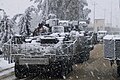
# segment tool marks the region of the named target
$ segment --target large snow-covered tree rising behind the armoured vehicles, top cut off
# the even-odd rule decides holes
[[[38,3],[38,9],[42,19],[48,14],[57,15],[63,20],[84,20],[88,15],[84,15],[84,7],[88,5],[86,0],[31,0]],[[85,9],[86,10],[86,9]],[[86,17],[86,18],[85,18]]]

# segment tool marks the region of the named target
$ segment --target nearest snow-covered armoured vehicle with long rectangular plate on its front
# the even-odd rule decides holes
[[[14,36],[3,46],[5,59],[15,61],[16,77],[42,73],[65,77],[71,72],[74,55],[80,52],[78,39],[63,41],[51,35],[31,39]]]

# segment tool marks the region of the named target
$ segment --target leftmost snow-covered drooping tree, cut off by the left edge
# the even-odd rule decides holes
[[[14,23],[8,18],[6,12],[3,9],[0,9],[3,12],[2,19],[0,21],[0,44],[7,42],[13,35],[12,27]]]

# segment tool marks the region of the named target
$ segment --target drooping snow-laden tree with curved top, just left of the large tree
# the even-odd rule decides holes
[[[20,27],[20,32],[19,32],[20,35],[29,36],[31,34],[30,23],[32,20],[31,17],[32,12],[37,13],[37,10],[35,7],[30,6],[25,10],[25,13],[22,14],[22,17],[20,18],[20,21],[18,23],[18,27]]]

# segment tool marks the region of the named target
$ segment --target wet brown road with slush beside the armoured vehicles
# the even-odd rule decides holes
[[[0,80],[18,80],[14,75],[8,76]],[[22,80],[42,80],[39,76],[34,78],[26,78]],[[61,80],[61,79],[43,79],[43,80]],[[67,80],[120,80],[117,78],[116,65],[110,66],[108,60],[103,58],[102,45],[96,45],[94,51],[91,52],[90,60],[74,66]]]

